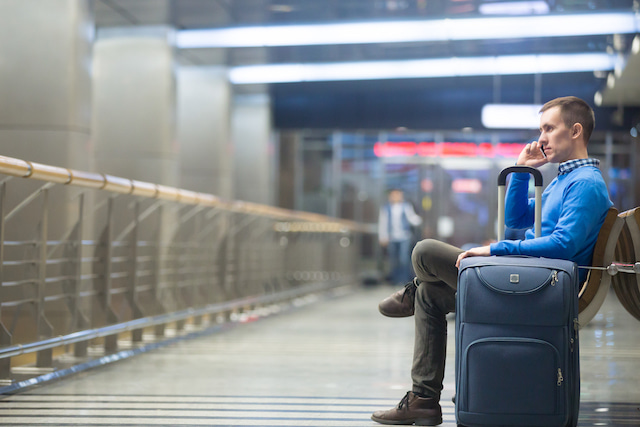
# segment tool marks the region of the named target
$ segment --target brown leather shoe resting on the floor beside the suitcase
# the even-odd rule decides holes
[[[376,411],[371,419],[380,424],[437,426],[442,424],[442,408],[437,399],[408,391],[398,406],[388,411]]]

